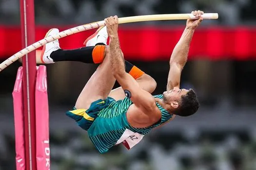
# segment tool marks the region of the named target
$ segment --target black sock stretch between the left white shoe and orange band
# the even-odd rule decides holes
[[[75,50],[62,50],[53,51],[50,57],[54,62],[58,61],[79,61],[83,63],[94,63],[92,52],[95,46],[82,47]]]

